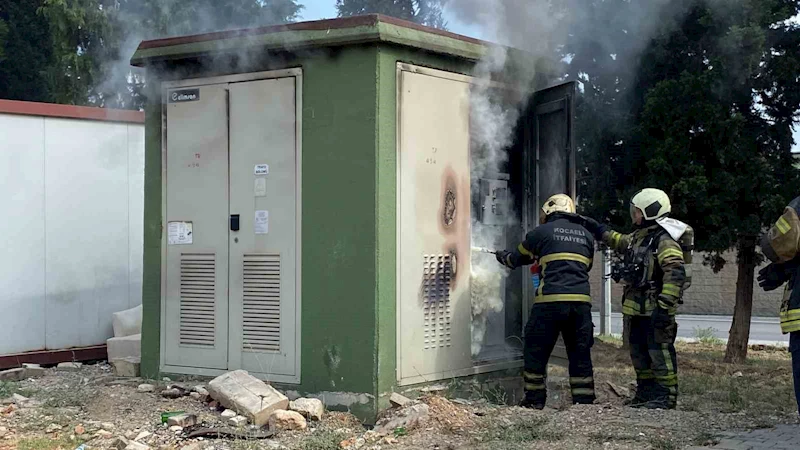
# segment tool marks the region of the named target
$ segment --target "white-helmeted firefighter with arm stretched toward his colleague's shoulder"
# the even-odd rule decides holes
[[[681,246],[669,228],[685,224],[668,219],[669,197],[659,189],[643,189],[631,199],[636,230],[623,235],[586,218],[595,238],[623,254],[612,271],[625,285],[622,314],[626,339],[636,371],[633,407],[674,409],[678,400],[678,361],[675,338],[677,306],[686,281]],[[684,228],[685,229],[685,228]]]

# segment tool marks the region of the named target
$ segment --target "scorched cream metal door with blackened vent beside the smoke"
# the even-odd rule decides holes
[[[469,83],[398,78],[398,378],[408,384],[472,366]]]

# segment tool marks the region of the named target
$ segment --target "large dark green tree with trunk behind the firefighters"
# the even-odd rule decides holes
[[[749,335],[756,237],[800,186],[790,153],[800,110],[800,27],[789,21],[800,2],[675,0],[669,7],[677,13],[664,14],[634,71],[619,57],[603,59],[608,48],[584,56],[591,41],[567,46],[575,54],[570,75],[586,92],[582,200],[590,213],[629,223],[632,191],[659,187],[670,194],[673,215],[695,228],[697,248],[715,270],[725,264],[723,252],[738,249],[726,355],[738,360]],[[624,42],[611,46],[624,55]]]

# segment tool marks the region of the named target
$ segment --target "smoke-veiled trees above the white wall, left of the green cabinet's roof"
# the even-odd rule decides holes
[[[141,40],[286,23],[301,9],[296,0],[0,0],[0,95],[138,109],[145,80],[128,60]]]

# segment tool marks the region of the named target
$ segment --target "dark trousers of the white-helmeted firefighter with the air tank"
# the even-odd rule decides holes
[[[678,324],[661,330],[653,328],[650,316],[625,316],[629,330],[631,362],[636,371],[638,402],[659,401],[667,408],[678,403],[678,358],[675,338]]]

